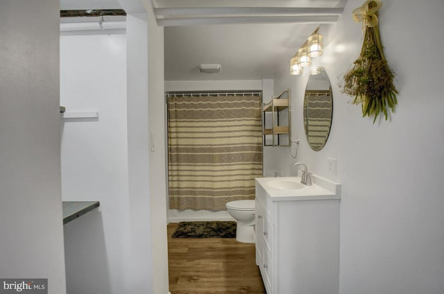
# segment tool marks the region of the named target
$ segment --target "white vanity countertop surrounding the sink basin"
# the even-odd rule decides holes
[[[295,190],[281,190],[270,187],[268,182],[275,180],[300,182],[300,177],[256,178],[256,182],[264,188],[272,201],[341,199],[341,184],[316,175],[311,175],[311,181],[313,182],[311,186],[304,185],[301,189]]]

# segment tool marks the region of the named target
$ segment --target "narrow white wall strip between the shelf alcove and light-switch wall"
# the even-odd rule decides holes
[[[138,294],[153,288],[152,242],[155,242],[151,239],[150,223],[146,13],[127,15],[126,26],[130,196],[130,258],[126,293]]]

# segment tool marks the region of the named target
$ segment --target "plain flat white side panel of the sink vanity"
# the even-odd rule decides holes
[[[273,211],[276,293],[339,292],[339,200],[282,201]]]

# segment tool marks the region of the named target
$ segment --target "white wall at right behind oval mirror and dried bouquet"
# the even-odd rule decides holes
[[[361,5],[349,0],[324,36],[321,62],[332,83],[334,114],[323,150],[311,150],[304,135],[302,98],[308,76],[283,74],[275,80],[275,90],[292,89],[293,137],[301,139],[298,161],[343,185],[340,293],[443,293],[444,100],[439,85],[444,78],[444,2],[384,2],[379,28],[400,93],[391,120],[375,124],[361,117],[361,107],[348,103],[351,98],[338,86],[361,48],[361,24],[351,17]],[[422,45],[430,40],[433,46]],[[427,50],[418,51],[421,46]],[[288,62],[282,63],[283,73]],[[337,175],[328,171],[327,157],[336,157]],[[276,159],[282,174],[295,174],[287,153]]]

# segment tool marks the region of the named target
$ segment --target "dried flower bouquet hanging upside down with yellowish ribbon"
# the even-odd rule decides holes
[[[361,104],[363,117],[374,116],[373,123],[382,113],[387,120],[388,108],[395,112],[398,103],[398,91],[393,85],[395,74],[388,67],[379,39],[377,10],[381,6],[380,0],[368,0],[353,11],[353,19],[363,23],[364,42],[359,57],[344,75],[342,90],[355,97],[353,104]]]

